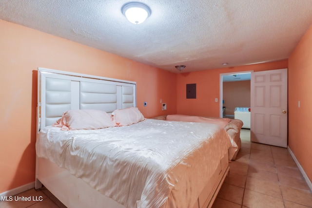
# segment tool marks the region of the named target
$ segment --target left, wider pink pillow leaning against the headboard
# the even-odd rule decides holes
[[[111,117],[100,110],[69,110],[52,126],[62,130],[104,129],[116,126]]]

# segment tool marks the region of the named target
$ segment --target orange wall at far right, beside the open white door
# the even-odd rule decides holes
[[[292,52],[288,64],[288,145],[312,181],[311,80],[312,27]]]

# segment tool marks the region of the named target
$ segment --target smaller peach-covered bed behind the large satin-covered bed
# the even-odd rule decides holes
[[[229,134],[231,147],[229,148],[229,160],[235,160],[241,148],[240,130],[243,122],[240,119],[215,118],[207,116],[190,116],[190,115],[159,115],[153,117],[157,120],[171,121],[188,121],[188,122],[204,122],[218,124]]]

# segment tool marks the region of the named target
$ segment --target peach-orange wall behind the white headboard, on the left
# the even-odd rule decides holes
[[[0,193],[35,180],[38,67],[136,81],[145,117],[176,113],[174,73],[3,20],[0,31]]]

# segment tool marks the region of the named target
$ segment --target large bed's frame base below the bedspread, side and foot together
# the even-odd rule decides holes
[[[193,208],[211,208],[222,183],[229,172],[228,154],[220,161],[218,169],[209,183],[199,194]],[[35,189],[45,186],[68,208],[125,208],[115,200],[106,197],[91,188],[82,179],[75,177],[68,170],[59,168],[45,158],[36,158]]]

